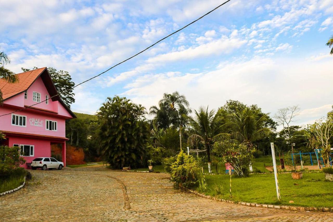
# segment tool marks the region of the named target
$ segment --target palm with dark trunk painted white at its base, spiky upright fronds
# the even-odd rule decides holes
[[[228,133],[223,133],[223,127],[225,125],[220,112],[215,114],[214,110],[208,111],[208,106],[205,109],[200,107],[198,111],[194,110],[194,118],[188,117],[190,126],[190,136],[188,141],[194,144],[196,141],[201,142],[207,153],[208,159],[208,171],[211,172],[210,168],[210,149],[214,141],[229,138]]]

